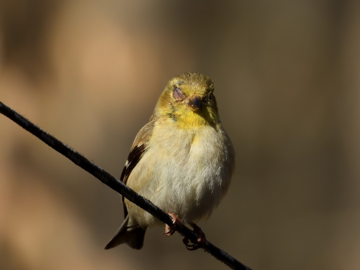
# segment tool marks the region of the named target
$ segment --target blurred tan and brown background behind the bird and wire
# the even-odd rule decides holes
[[[360,2],[2,0],[0,100],[120,177],[168,80],[215,82],[237,153],[207,239],[256,269],[360,265]],[[104,245],[120,196],[0,115],[0,269],[228,269]]]

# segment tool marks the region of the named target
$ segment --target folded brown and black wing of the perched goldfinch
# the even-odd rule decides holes
[[[127,160],[125,162],[125,166],[124,166],[121,176],[120,176],[120,180],[125,185],[126,185],[127,179],[129,178],[129,175],[131,174],[131,171],[135,168],[136,164],[139,163],[141,157],[143,157],[143,154],[147,150],[147,142],[149,140],[150,135],[152,134],[154,125],[155,125],[155,121],[151,120],[149,123],[147,123],[145,126],[143,126],[140,129],[140,131],[138,132],[138,135],[136,135],[134,143],[132,143],[129,157],[127,158]],[[126,218],[127,209],[126,209],[124,200],[125,200],[125,198],[122,196],[122,204],[124,206],[124,215]]]

